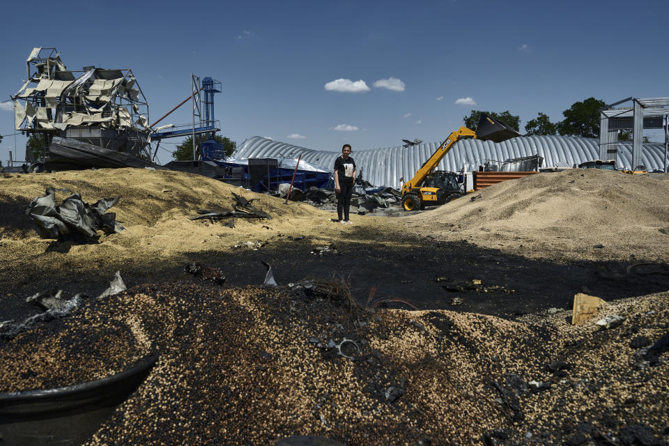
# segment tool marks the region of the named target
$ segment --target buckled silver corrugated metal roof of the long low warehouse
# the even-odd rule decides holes
[[[351,156],[364,180],[378,186],[401,187],[399,178],[410,180],[422,164],[437,150],[442,141],[419,144],[410,147],[378,148],[355,151]],[[599,139],[532,136],[512,138],[500,143],[461,139],[439,163],[439,170],[459,171],[463,166],[467,171],[478,169],[486,160],[505,161],[539,154],[544,157],[543,167],[572,167],[574,164],[599,158]],[[281,141],[263,137],[251,137],[244,141],[233,153],[238,159],[254,157],[292,157],[302,155],[302,160],[321,169],[332,171],[334,160],[340,155],[334,151],[316,151],[293,146]],[[618,167],[631,168],[631,143],[618,144]],[[647,169],[664,168],[664,145],[644,144],[643,163]]]

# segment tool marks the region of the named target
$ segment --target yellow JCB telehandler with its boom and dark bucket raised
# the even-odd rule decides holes
[[[439,162],[462,137],[472,137],[484,141],[501,142],[521,136],[512,127],[485,113],[479,118],[476,131],[461,127],[449,134],[446,141],[437,148],[416,174],[402,185],[402,207],[404,210],[419,210],[425,206],[436,206],[462,197],[466,192],[460,189],[457,174],[435,171]],[[404,178],[400,178],[403,181]]]

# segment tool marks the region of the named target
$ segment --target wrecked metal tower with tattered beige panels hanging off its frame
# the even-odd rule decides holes
[[[53,47],[26,60],[27,80],[13,96],[16,130],[75,139],[150,159],[148,103],[132,70],[68,70]]]

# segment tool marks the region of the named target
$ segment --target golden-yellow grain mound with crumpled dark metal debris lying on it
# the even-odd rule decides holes
[[[290,232],[290,228],[302,220],[320,217],[326,221],[330,215],[301,203],[285,206],[282,200],[274,197],[182,172],[100,169],[20,175],[0,178],[0,240],[8,259],[45,254],[33,260],[43,261],[43,267],[48,268],[49,261],[59,258],[59,253],[46,251],[52,240],[38,238],[24,213],[31,199],[42,196],[47,187],[56,188],[56,203],[68,197],[70,192],[81,194],[89,203],[102,197],[120,199],[112,211],[116,213],[116,220],[126,228],[123,237],[102,237],[99,245],[75,245],[70,249],[73,258],[86,256],[89,261],[95,258],[105,263],[109,262],[105,257],[130,261],[141,256],[142,259],[166,261],[171,256],[195,249],[229,246],[242,235],[245,236],[243,240],[256,234],[261,236],[267,233],[262,226],[267,226],[268,222],[272,229]],[[265,210],[272,220],[257,224],[257,221],[236,219],[236,231],[209,225],[206,221],[189,220],[200,209],[233,210],[233,193],[247,199],[255,198],[255,206]]]

